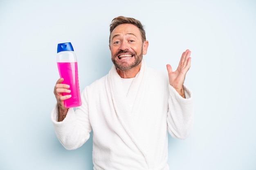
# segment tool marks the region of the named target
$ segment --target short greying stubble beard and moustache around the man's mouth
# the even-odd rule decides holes
[[[127,63],[126,61],[121,61],[120,62],[117,62],[117,56],[121,53],[126,53],[126,54],[131,54],[133,55],[133,57],[135,58],[135,61],[133,63]],[[139,63],[141,63],[142,61],[142,58],[143,58],[143,50],[141,48],[141,53],[139,55],[137,55],[137,53],[134,53],[134,52],[130,52],[128,50],[120,50],[119,52],[117,52],[114,57],[111,57],[111,60],[113,62],[113,64],[115,65],[116,68],[122,70],[122,71],[125,71],[125,70],[130,70],[134,67],[136,67],[137,65],[139,65]]]

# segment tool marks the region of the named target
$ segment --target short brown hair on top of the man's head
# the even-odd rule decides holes
[[[141,24],[141,22],[139,20],[136,20],[134,18],[129,18],[129,17],[124,17],[124,16],[119,16],[119,17],[115,17],[111,24],[110,24],[110,35],[112,33],[112,31],[119,25],[121,24],[133,24],[135,26],[137,26],[139,28],[139,31],[141,33],[141,38],[142,38],[142,42],[146,41],[146,33],[144,30],[144,26]],[[110,43],[110,36],[109,36],[109,43]]]

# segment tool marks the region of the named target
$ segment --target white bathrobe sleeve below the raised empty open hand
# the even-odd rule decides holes
[[[169,85],[169,110],[167,115],[168,132],[172,137],[186,139],[192,131],[194,108],[192,92],[184,85],[185,97]]]

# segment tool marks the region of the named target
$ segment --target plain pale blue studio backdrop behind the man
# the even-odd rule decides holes
[[[192,51],[195,123],[185,140],[169,135],[170,169],[255,170],[253,0],[1,0],[0,169],[92,169],[92,138],[65,150],[50,120],[57,44],[72,43],[82,90],[112,66],[109,24],[119,15],[145,25],[150,67],[176,69]]]

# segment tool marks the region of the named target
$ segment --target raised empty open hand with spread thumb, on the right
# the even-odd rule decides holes
[[[180,96],[182,96],[183,98],[185,98],[183,83],[191,63],[190,54],[191,54],[190,50],[186,50],[185,52],[182,53],[180,63],[177,67],[177,70],[174,72],[170,64],[166,65],[170,85],[172,85],[176,89],[176,91],[180,94]]]

